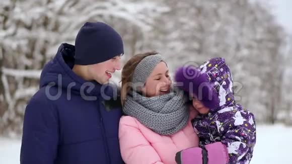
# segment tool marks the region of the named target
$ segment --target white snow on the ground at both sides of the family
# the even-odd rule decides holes
[[[291,137],[292,127],[258,125],[257,143],[251,164],[292,163]],[[20,163],[20,145],[20,140],[0,138],[0,164]]]

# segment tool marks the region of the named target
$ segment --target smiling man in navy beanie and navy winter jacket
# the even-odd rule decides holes
[[[22,164],[122,163],[120,108],[107,85],[121,69],[123,42],[104,23],[86,23],[75,46],[61,44],[43,68],[40,89],[29,101],[23,125]]]

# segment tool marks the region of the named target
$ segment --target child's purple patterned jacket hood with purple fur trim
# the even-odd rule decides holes
[[[233,78],[224,58],[211,58],[199,67],[179,67],[175,81],[181,83],[180,89],[197,97],[210,112],[235,105]]]

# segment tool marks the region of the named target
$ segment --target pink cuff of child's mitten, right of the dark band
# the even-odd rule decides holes
[[[208,152],[208,163],[226,164],[229,162],[227,147],[221,142],[205,145]]]

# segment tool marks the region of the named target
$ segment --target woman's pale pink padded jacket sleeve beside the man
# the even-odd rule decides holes
[[[121,155],[127,164],[163,164],[160,156],[139,130],[136,119],[123,116],[119,123]]]

